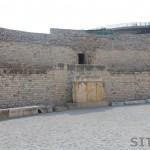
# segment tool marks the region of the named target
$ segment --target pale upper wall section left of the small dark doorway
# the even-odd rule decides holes
[[[77,61],[77,54],[68,47],[0,41],[0,61],[29,66],[50,66],[58,63],[74,64]]]

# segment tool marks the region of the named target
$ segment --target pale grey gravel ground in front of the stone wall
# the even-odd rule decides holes
[[[0,150],[148,150],[150,105],[71,110],[0,121]]]

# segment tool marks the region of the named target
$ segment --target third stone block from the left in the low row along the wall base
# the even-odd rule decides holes
[[[23,115],[24,116],[37,115],[38,108],[39,108],[38,106],[24,107]]]

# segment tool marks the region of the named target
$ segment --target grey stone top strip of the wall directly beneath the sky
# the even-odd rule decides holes
[[[34,33],[34,32],[25,32],[18,31],[6,28],[0,28],[0,40],[5,41],[16,41],[16,42],[34,42],[34,43],[43,43],[43,44],[58,44],[58,38],[60,38],[63,43],[64,37],[70,39],[70,37],[88,37],[88,38],[112,38],[118,36],[131,36],[128,34],[112,34],[112,35],[99,35],[87,33],[85,30],[72,30],[72,29],[57,29],[51,28],[50,34],[46,33]],[[138,36],[134,34],[132,36]],[[150,34],[142,34],[141,36],[150,36]],[[59,41],[60,42],[60,41]]]

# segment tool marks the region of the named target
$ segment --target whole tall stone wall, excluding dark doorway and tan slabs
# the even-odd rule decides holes
[[[85,53],[88,64],[78,64]],[[0,108],[64,105],[72,82],[99,79],[109,102],[150,98],[150,34],[0,29]]]

